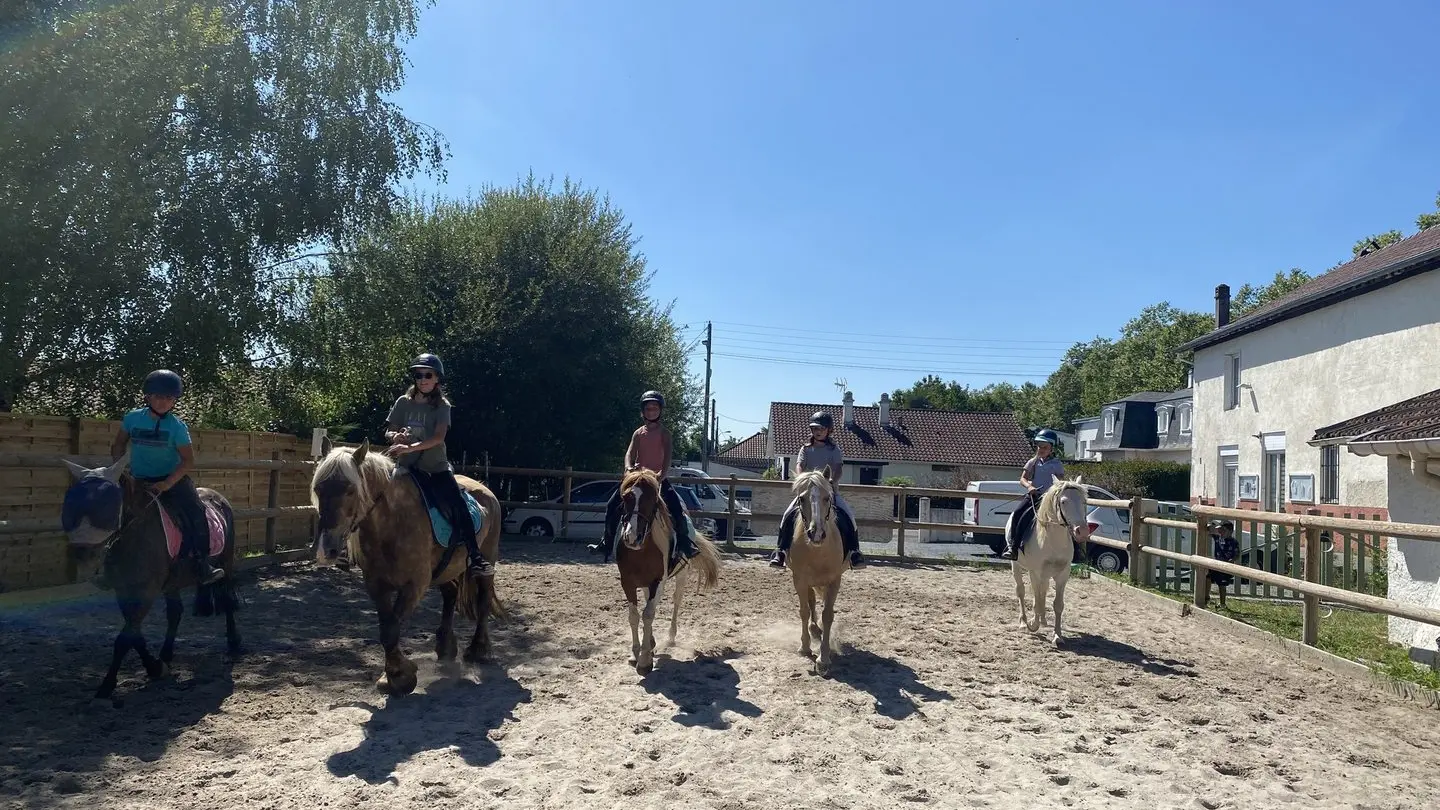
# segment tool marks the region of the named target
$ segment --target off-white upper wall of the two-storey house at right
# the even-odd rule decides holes
[[[1320,450],[1306,444],[1316,428],[1440,388],[1436,301],[1440,272],[1428,272],[1197,352],[1191,497],[1218,497],[1221,445],[1238,447],[1240,474],[1261,476],[1263,496],[1256,434],[1283,432],[1287,476],[1313,474],[1319,499]],[[1234,352],[1240,380],[1251,388],[1227,411],[1225,356]],[[1384,507],[1387,500],[1385,460],[1341,453],[1339,503]]]

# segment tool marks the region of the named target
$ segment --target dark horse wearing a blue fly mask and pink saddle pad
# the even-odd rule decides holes
[[[115,651],[109,672],[101,682],[95,698],[108,698],[115,690],[120,664],[130,650],[135,650],[140,663],[151,680],[170,672],[174,657],[176,630],[184,605],[180,591],[196,585],[194,566],[170,558],[164,523],[160,516],[160,502],[156,500],[134,479],[125,474],[130,463],[127,453],[109,467],[94,470],[66,461],[75,483],[65,491],[62,523],[69,536],[71,556],[81,579],[92,579],[104,571],[104,581],[115,589],[115,601],[125,626],[115,637]],[[194,594],[196,615],[225,614],[225,637],[230,654],[240,651],[240,634],[235,628],[235,512],[220,493],[199,487],[200,502],[215,507],[225,522],[225,548],[212,561],[225,569],[225,578],[213,585],[199,585]],[[179,516],[171,516],[179,519]],[[150,654],[140,626],[154,605],[156,598],[166,597],[166,641],[160,646],[160,657]]]

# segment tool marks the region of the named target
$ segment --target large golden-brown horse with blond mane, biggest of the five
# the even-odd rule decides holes
[[[436,542],[418,481],[384,454],[370,453],[369,441],[347,450],[325,440],[324,453],[311,480],[320,513],[315,562],[334,565],[340,543],[346,543],[350,561],[364,574],[384,647],[384,675],[377,686],[392,695],[415,690],[418,667],[400,650],[400,627],[432,587],[444,598],[435,657],[441,663],[455,660],[458,607],[461,615],[475,621],[465,663],[482,663],[490,656],[490,614],[503,615],[494,577],[472,581],[467,574],[465,543],[454,532],[446,545]],[[494,565],[500,559],[500,502],[480,481],[464,476],[455,480],[480,504],[480,551]]]

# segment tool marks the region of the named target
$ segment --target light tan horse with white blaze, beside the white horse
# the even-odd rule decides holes
[[[801,473],[791,487],[799,499],[801,519],[795,522],[791,551],[785,566],[795,579],[795,595],[801,601],[801,654],[814,657],[811,638],[819,641],[816,675],[828,675],[831,653],[837,651],[831,627],[835,623],[835,597],[840,595],[840,578],[850,569],[835,522],[835,490],[829,479],[819,470]],[[822,598],[824,610],[816,621],[815,597]]]

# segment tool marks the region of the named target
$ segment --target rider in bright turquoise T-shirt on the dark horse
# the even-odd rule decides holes
[[[180,556],[192,561],[199,582],[213,584],[225,578],[225,569],[210,565],[210,526],[200,493],[190,479],[194,468],[190,428],[174,412],[184,393],[184,380],[170,369],[156,369],[145,375],[140,391],[145,406],[135,408],[120,421],[109,455],[120,458],[130,447],[131,477],[145,484],[176,519],[184,538]],[[98,584],[111,585],[104,574]]]

